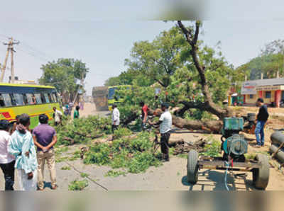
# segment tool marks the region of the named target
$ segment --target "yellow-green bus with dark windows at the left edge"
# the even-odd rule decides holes
[[[27,113],[33,129],[40,114],[53,120],[53,107],[62,110],[61,99],[53,86],[0,83],[0,120],[16,121],[16,115]]]

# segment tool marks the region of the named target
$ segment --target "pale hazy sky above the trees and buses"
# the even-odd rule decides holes
[[[210,47],[220,41],[223,55],[234,67],[258,56],[267,42],[284,39],[284,3],[257,2],[220,0],[190,7],[205,20],[201,39]],[[126,0],[30,0],[4,2],[1,7],[9,6],[13,6],[13,13],[9,10],[0,13],[0,41],[11,36],[20,41],[15,46],[16,76],[37,80],[42,74],[41,65],[48,61],[62,57],[81,59],[89,67],[85,89],[90,95],[93,86],[102,86],[110,76],[126,70],[124,59],[129,58],[133,42],[153,40],[161,31],[175,25],[159,19],[168,18],[167,6],[177,5],[170,0],[158,0],[155,4]],[[186,8],[185,1],[178,6]],[[6,46],[1,42],[3,64]],[[10,60],[7,66],[11,67]],[[7,69],[6,81],[10,74]]]

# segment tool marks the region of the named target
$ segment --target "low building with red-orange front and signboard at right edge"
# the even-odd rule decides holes
[[[284,99],[284,78],[245,81],[241,95],[244,96],[244,105],[255,105],[258,98],[263,98],[264,103],[279,108]]]

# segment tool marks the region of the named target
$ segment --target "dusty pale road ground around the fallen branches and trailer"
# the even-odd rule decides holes
[[[251,110],[253,111],[253,110]],[[257,111],[257,110],[256,110]],[[281,113],[277,110],[275,113]],[[109,112],[97,113],[95,106],[88,103],[84,106],[84,110],[80,112],[81,116],[86,115],[107,115]],[[271,125],[271,127],[280,125]],[[282,125],[283,126],[283,125]],[[266,128],[266,143],[261,149],[253,148],[256,144],[254,135],[246,135],[249,140],[249,153],[268,152],[270,146],[270,135],[273,132],[271,127]],[[175,131],[170,139],[185,139],[194,142],[200,137],[207,138],[209,135],[190,132]],[[212,135],[214,139],[220,139],[220,135]],[[80,149],[80,145],[68,147],[68,151],[62,153],[67,156],[72,152]],[[163,166],[157,168],[151,167],[145,173],[133,174],[126,176],[118,176],[116,178],[104,176],[107,171],[111,170],[108,166],[84,165],[81,159],[75,161],[62,161],[56,164],[58,190],[68,190],[70,182],[82,180],[81,173],[89,175],[87,179],[89,186],[85,190],[226,190],[224,186],[224,171],[201,170],[199,171],[199,181],[192,186],[186,180],[186,164],[187,159],[178,156],[171,156],[170,161],[164,163]],[[62,170],[63,166],[69,166],[70,170]],[[229,173],[227,181],[230,190],[254,190],[251,185],[252,174],[248,173],[244,178],[235,177],[233,173]],[[47,166],[45,166],[45,190],[50,190],[50,179]],[[15,188],[17,188],[17,183]],[[4,190],[4,178],[0,172],[0,190]],[[284,175],[274,166],[270,169],[270,180],[266,190],[284,190]]]

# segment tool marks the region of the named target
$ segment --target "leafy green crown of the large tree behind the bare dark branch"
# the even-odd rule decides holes
[[[194,28],[192,30],[194,31]],[[235,82],[234,79],[239,74],[226,62],[218,47],[212,49],[204,45],[202,40],[199,40],[197,45],[197,54],[200,64],[205,67],[212,99],[214,103],[221,105],[227,97],[231,82]],[[130,58],[125,60],[128,69],[118,77],[119,83],[131,84],[133,88],[119,91],[119,96],[126,96],[124,103],[119,104],[122,120],[133,113],[140,113],[140,101],[150,108],[158,108],[160,102],[165,101],[178,107],[182,106],[180,101],[204,102],[200,75],[192,62],[190,50],[190,45],[177,27],[163,31],[152,42],[141,41],[133,44]],[[122,80],[127,78],[126,75],[129,76],[128,79]],[[152,86],[141,84],[140,76],[143,79],[152,79]],[[155,88],[161,89],[158,100],[155,100]],[[193,112],[193,115],[190,115],[199,120],[211,118],[208,113]]]

